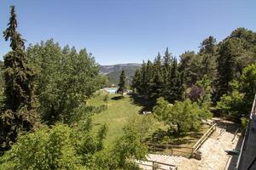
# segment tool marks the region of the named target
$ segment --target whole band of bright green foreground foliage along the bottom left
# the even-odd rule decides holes
[[[21,135],[12,150],[0,158],[0,168],[138,169],[132,159],[143,159],[147,148],[133,127],[126,126],[113,147],[104,148],[107,128],[103,125],[94,133],[90,118],[85,120],[73,127],[58,123]]]

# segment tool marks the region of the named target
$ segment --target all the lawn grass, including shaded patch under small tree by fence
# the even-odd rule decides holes
[[[106,104],[103,99],[106,94],[97,95],[95,98],[88,101],[88,105],[100,106]],[[109,94],[108,110],[102,111],[93,116],[93,122],[100,126],[104,123],[108,125],[107,139],[105,144],[113,144],[115,139],[118,139],[123,134],[123,127],[129,119],[134,116],[145,116],[139,114],[144,107],[139,105],[137,101],[129,95],[122,98],[119,94]],[[198,132],[190,132],[177,137],[167,133],[167,127],[163,122],[158,122],[154,119],[150,132],[148,132],[148,139],[156,139],[153,143],[156,144],[178,144],[181,147],[192,147],[198,139],[207,131],[208,125],[203,125]],[[185,151],[185,149],[177,149]]]

